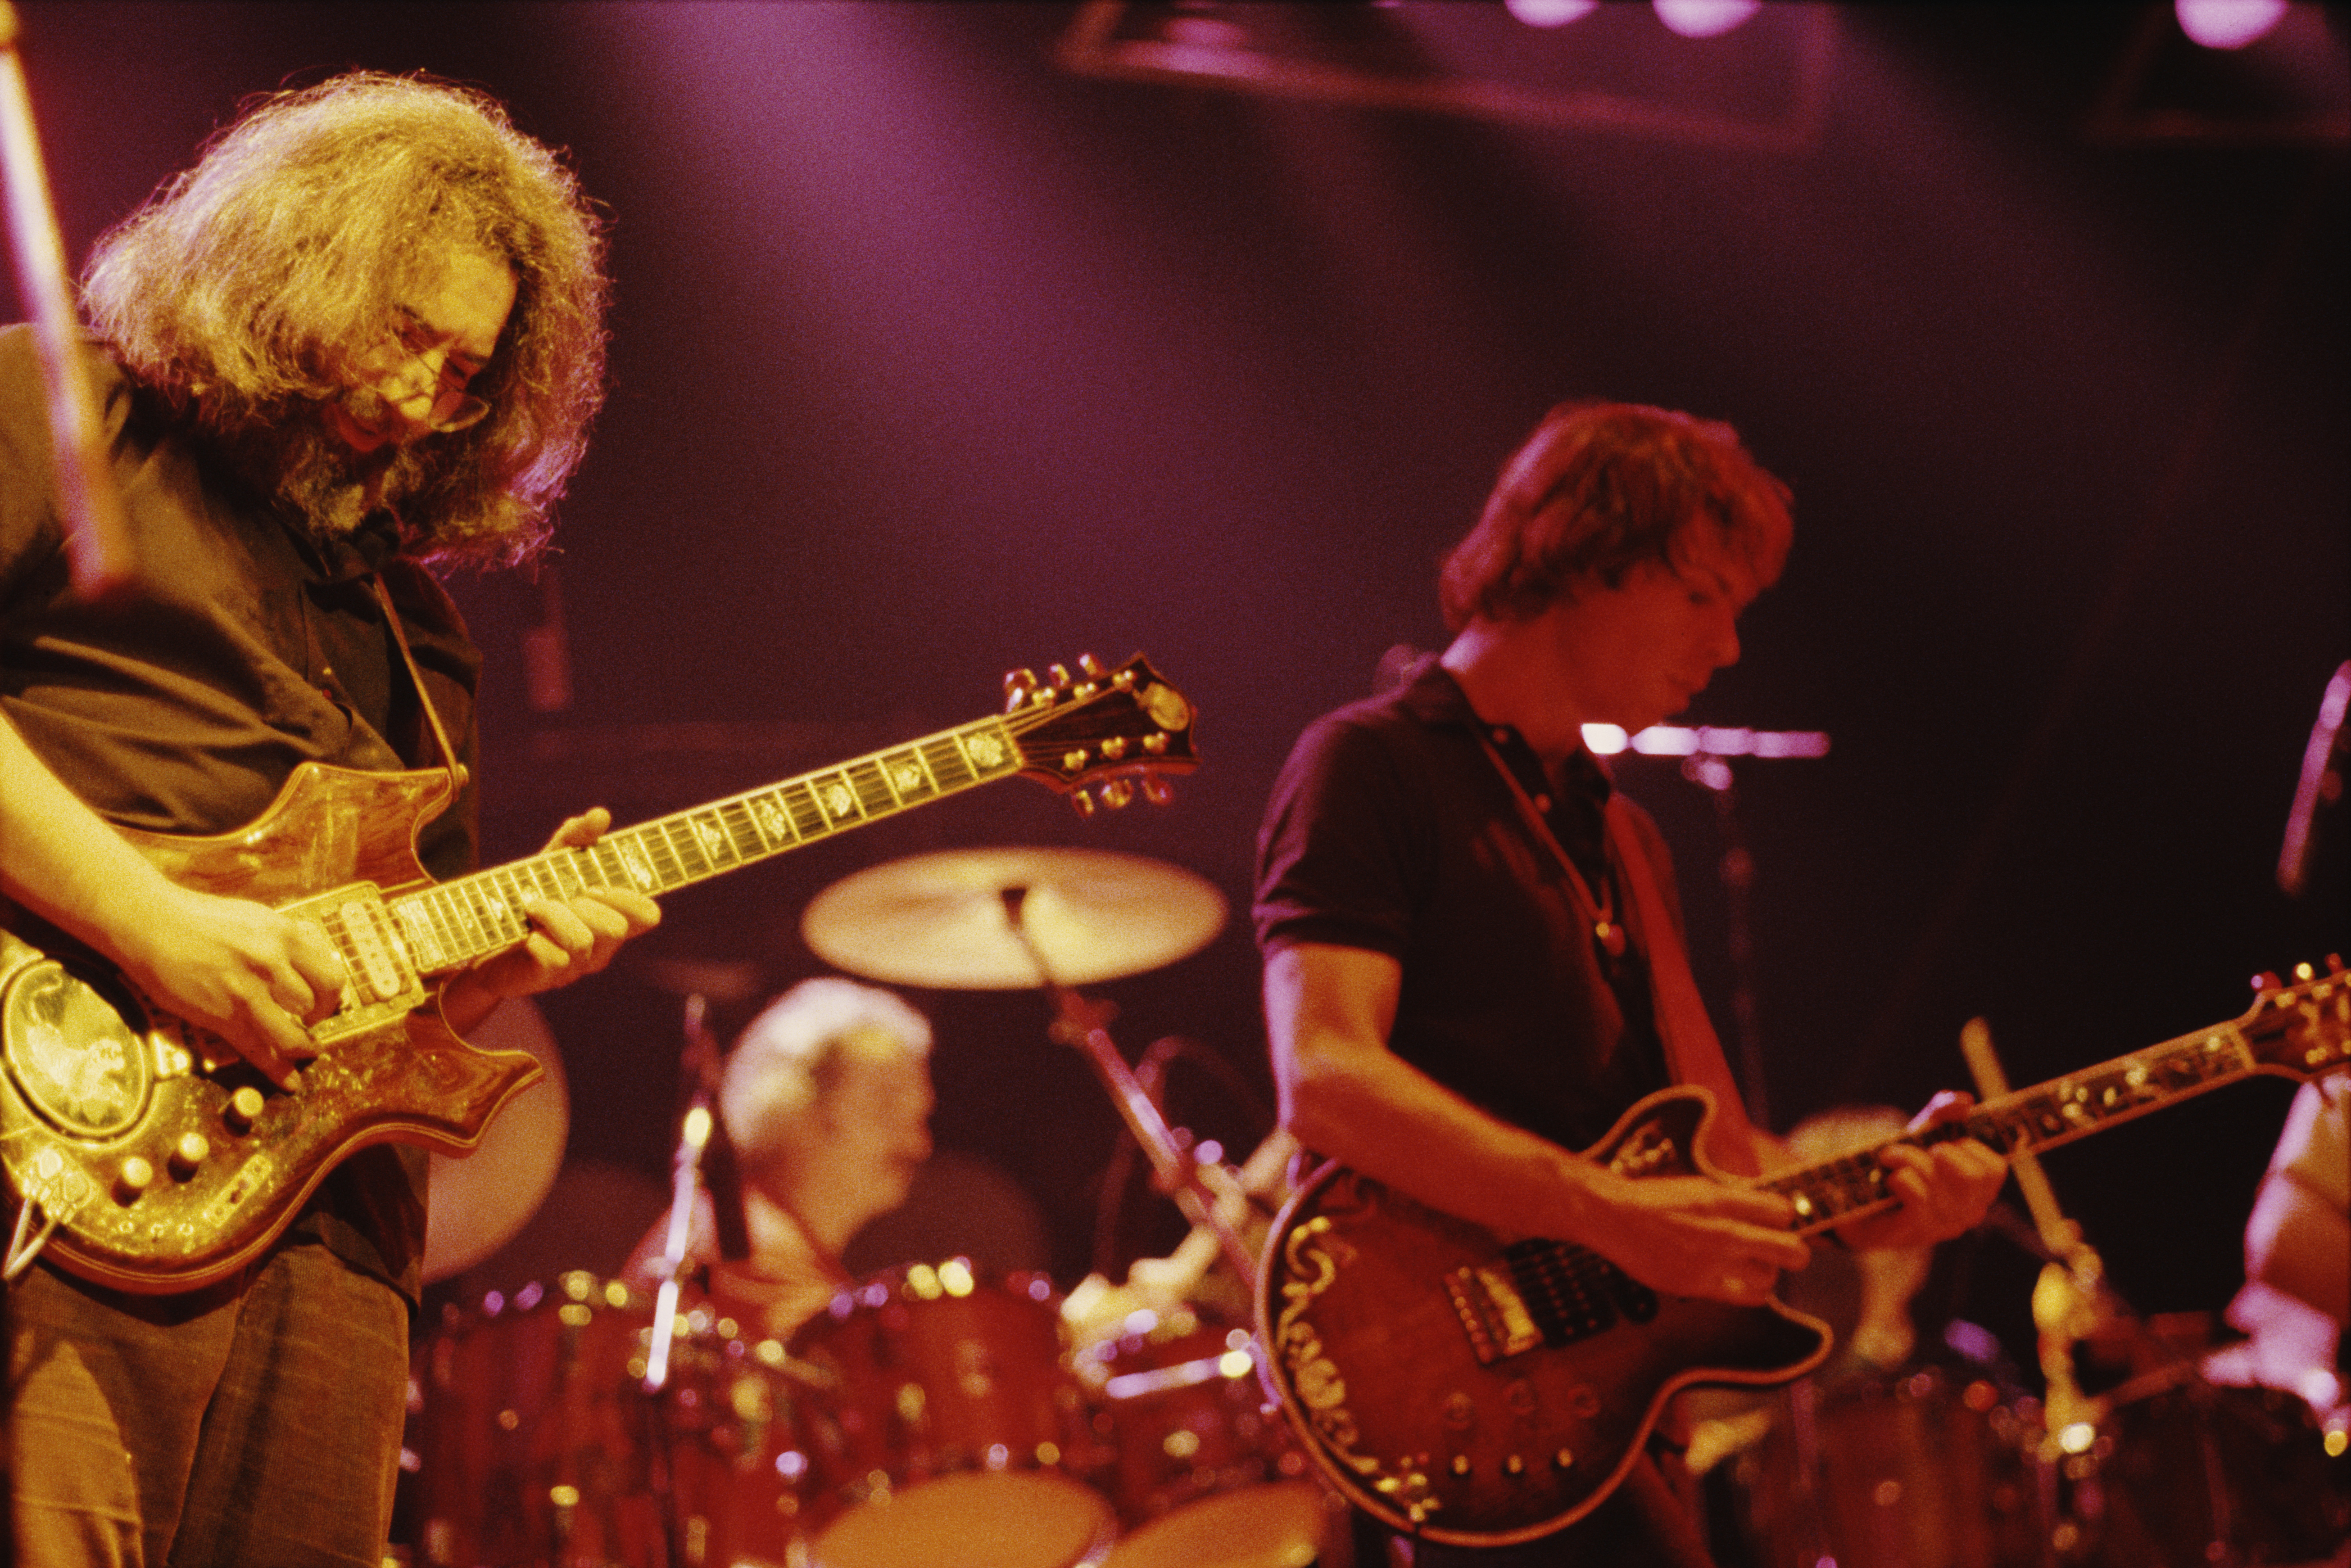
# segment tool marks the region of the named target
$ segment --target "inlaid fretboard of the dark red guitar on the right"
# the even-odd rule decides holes
[[[1803,1171],[1768,1175],[1756,1187],[1791,1199],[1796,1204],[1794,1229],[1810,1234],[1895,1201],[1886,1187],[1890,1171],[1878,1159],[1878,1150],[1893,1143],[1925,1145],[1975,1138],[2008,1157],[2029,1154],[2088,1138],[2186,1095],[2233,1084],[2252,1070],[2255,1056],[2245,1034],[2224,1023],[1987,1100],[1963,1121],[1890,1138]]]

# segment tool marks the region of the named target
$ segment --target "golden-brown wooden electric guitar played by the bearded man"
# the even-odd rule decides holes
[[[1046,684],[1009,677],[1006,712],[442,884],[416,860],[416,830],[447,806],[444,771],[306,762],[240,832],[125,832],[181,886],[315,919],[350,976],[343,1006],[280,1091],[0,900],[0,1168],[54,1227],[61,1267],[143,1293],[221,1279],[353,1150],[470,1150],[538,1077],[522,1051],[468,1046],[437,1006],[447,976],[529,936],[524,903],[668,893],[1013,773],[1084,809],[1166,799],[1164,776],[1197,762],[1192,703],[1140,656],[1079,665]]]

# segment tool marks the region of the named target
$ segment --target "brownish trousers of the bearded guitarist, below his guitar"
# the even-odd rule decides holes
[[[296,1241],[186,1295],[9,1286],[16,1561],[381,1568],[407,1300]]]

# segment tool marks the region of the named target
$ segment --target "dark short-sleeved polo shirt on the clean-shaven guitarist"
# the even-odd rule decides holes
[[[1479,1110],[1582,1150],[1667,1084],[1648,971],[1632,950],[1603,959],[1481,729],[1434,658],[1399,691],[1317,719],[1258,837],[1258,943],[1396,959],[1389,1048]],[[1486,741],[1587,882],[1606,886],[1606,773],[1578,755],[1552,780],[1514,729]],[[1669,889],[1655,825],[1639,809],[1634,823]]]

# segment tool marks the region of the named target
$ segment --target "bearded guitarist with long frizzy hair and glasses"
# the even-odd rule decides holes
[[[440,769],[447,783],[416,797],[416,858],[433,879],[473,870],[480,656],[430,571],[545,541],[604,393],[607,292],[602,226],[569,169],[482,94],[355,73],[261,101],[99,240],[85,275],[103,343],[82,369],[136,562],[96,604],[68,588],[31,336],[0,331],[0,919],[35,950],[110,964],[188,1025],[172,1039],[207,1074],[219,1048],[270,1114],[301,1100],[263,1081],[296,1084],[320,1053],[310,1025],[381,971],[362,976],[320,924],[172,882],[115,827],[237,832],[303,764],[362,783]],[[313,825],[322,863],[371,835],[407,853],[397,813]],[[557,842],[607,827],[590,811]],[[451,1030],[602,969],[656,919],[632,889],[520,912],[527,938],[442,987]],[[56,1018],[24,1023],[9,1072],[47,1074],[52,1119],[87,1112],[103,1131],[134,1100],[120,1084],[146,1093],[174,1070],[141,1034],[92,1046]],[[150,1048],[162,1065],[139,1060]],[[115,1192],[80,1208],[200,1190],[259,1117],[174,1131],[169,1171],[120,1161]],[[254,1173],[237,1182],[266,1180],[268,1152],[247,1140],[235,1157]],[[360,1150],[273,1246],[193,1291],[106,1288],[49,1258],[24,1269],[19,1561],[376,1568],[423,1171],[423,1150]],[[61,1192],[19,1192],[16,1208],[33,1218]]]

